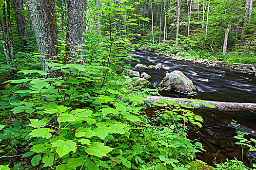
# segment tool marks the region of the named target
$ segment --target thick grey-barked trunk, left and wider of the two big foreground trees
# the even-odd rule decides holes
[[[50,70],[45,61],[58,55],[58,27],[55,14],[54,0],[27,0],[30,9],[30,19],[38,45],[38,51],[42,57],[40,62],[42,70]],[[50,76],[45,76],[49,78]]]

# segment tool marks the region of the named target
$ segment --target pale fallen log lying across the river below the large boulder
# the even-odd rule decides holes
[[[178,98],[170,98],[170,97],[162,97],[162,96],[149,96],[144,103],[158,102],[160,99],[165,99],[167,101],[174,101],[180,104],[191,105],[193,107],[197,107],[199,109],[209,109],[209,110],[218,110],[218,111],[256,111],[256,103],[238,103],[238,102],[215,102],[215,101],[203,101],[205,104],[214,105],[215,108],[210,108],[205,106],[203,103],[192,100],[191,102],[186,102],[189,99],[178,99]],[[192,103],[193,102],[193,103]],[[197,102],[197,104],[194,104]]]

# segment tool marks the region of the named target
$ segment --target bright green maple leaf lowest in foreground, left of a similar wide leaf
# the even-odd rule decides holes
[[[57,140],[52,143],[52,147],[57,147],[56,152],[59,154],[60,157],[64,156],[65,154],[69,153],[70,151],[76,152],[77,151],[77,143],[73,142],[72,140]]]

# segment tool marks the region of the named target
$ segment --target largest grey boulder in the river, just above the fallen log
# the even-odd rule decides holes
[[[164,86],[167,89],[177,90],[189,95],[196,94],[196,92],[193,92],[196,90],[193,82],[178,70],[167,73],[158,86]]]

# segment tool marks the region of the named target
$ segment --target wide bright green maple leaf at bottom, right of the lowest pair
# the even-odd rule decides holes
[[[106,153],[109,153],[114,148],[110,148],[107,146],[104,146],[104,143],[99,142],[92,142],[92,145],[85,149],[85,152],[89,153],[90,155],[95,156],[107,156]]]

